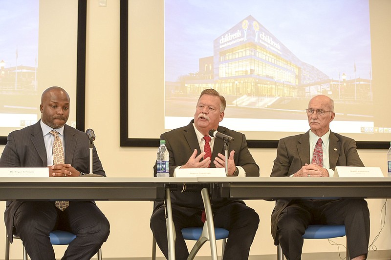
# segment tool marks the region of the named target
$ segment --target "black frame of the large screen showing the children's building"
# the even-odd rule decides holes
[[[128,78],[128,8],[129,0],[120,2],[120,146],[158,147],[159,139],[129,138],[129,78]],[[249,148],[277,148],[279,140],[247,140]],[[358,149],[388,149],[387,141],[356,141]]]

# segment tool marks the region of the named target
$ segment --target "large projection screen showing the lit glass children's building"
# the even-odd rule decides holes
[[[306,132],[308,101],[324,94],[332,131],[388,148],[390,11],[381,0],[123,0],[121,145],[157,146],[215,88],[227,100],[220,124],[250,147]]]

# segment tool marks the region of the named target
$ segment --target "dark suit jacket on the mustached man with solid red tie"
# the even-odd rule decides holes
[[[184,165],[193,154],[194,149],[197,149],[199,155],[201,149],[198,144],[198,140],[195,134],[194,120],[187,126],[180,127],[169,132],[166,132],[160,136],[161,140],[166,140],[166,147],[170,153],[170,176],[173,176],[174,169],[177,166]],[[234,161],[235,165],[243,167],[247,176],[260,176],[259,166],[253,159],[250,151],[247,148],[246,138],[243,134],[229,130],[228,128],[219,126],[217,131],[234,138],[228,146],[228,155],[232,150],[235,150]],[[224,141],[215,139],[215,143],[212,151],[212,161],[210,167],[216,167],[213,163],[213,159],[217,157],[217,153],[224,154]],[[156,165],[154,167],[154,176],[156,176]],[[186,185],[187,188],[188,185]],[[172,193],[171,200],[174,209],[178,209],[189,216],[193,215],[204,208],[201,193],[201,188],[195,188],[192,191],[181,192],[175,191]],[[189,189],[187,189],[189,190]],[[232,200],[230,200],[232,201]],[[229,203],[228,200],[212,200],[212,207],[218,208],[224,204]],[[161,203],[157,203],[155,209],[161,206]]]

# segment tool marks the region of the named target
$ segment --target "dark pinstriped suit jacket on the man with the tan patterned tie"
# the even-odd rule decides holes
[[[8,135],[0,158],[0,167],[47,167],[47,156],[39,120],[36,124]],[[65,163],[80,172],[89,172],[89,140],[87,135],[73,127],[64,127]],[[93,147],[93,172],[106,177],[96,148]],[[13,219],[23,201],[7,201],[4,212],[8,238],[12,242]]]

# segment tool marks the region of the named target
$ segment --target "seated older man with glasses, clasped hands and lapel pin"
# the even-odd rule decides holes
[[[330,177],[335,166],[364,166],[355,141],[330,131],[333,111],[334,102],[327,96],[309,101],[310,131],[279,141],[272,177]],[[367,258],[369,210],[363,199],[277,200],[271,221],[274,242],[288,260],[301,259],[302,235],[311,224],[345,225],[350,258]]]

